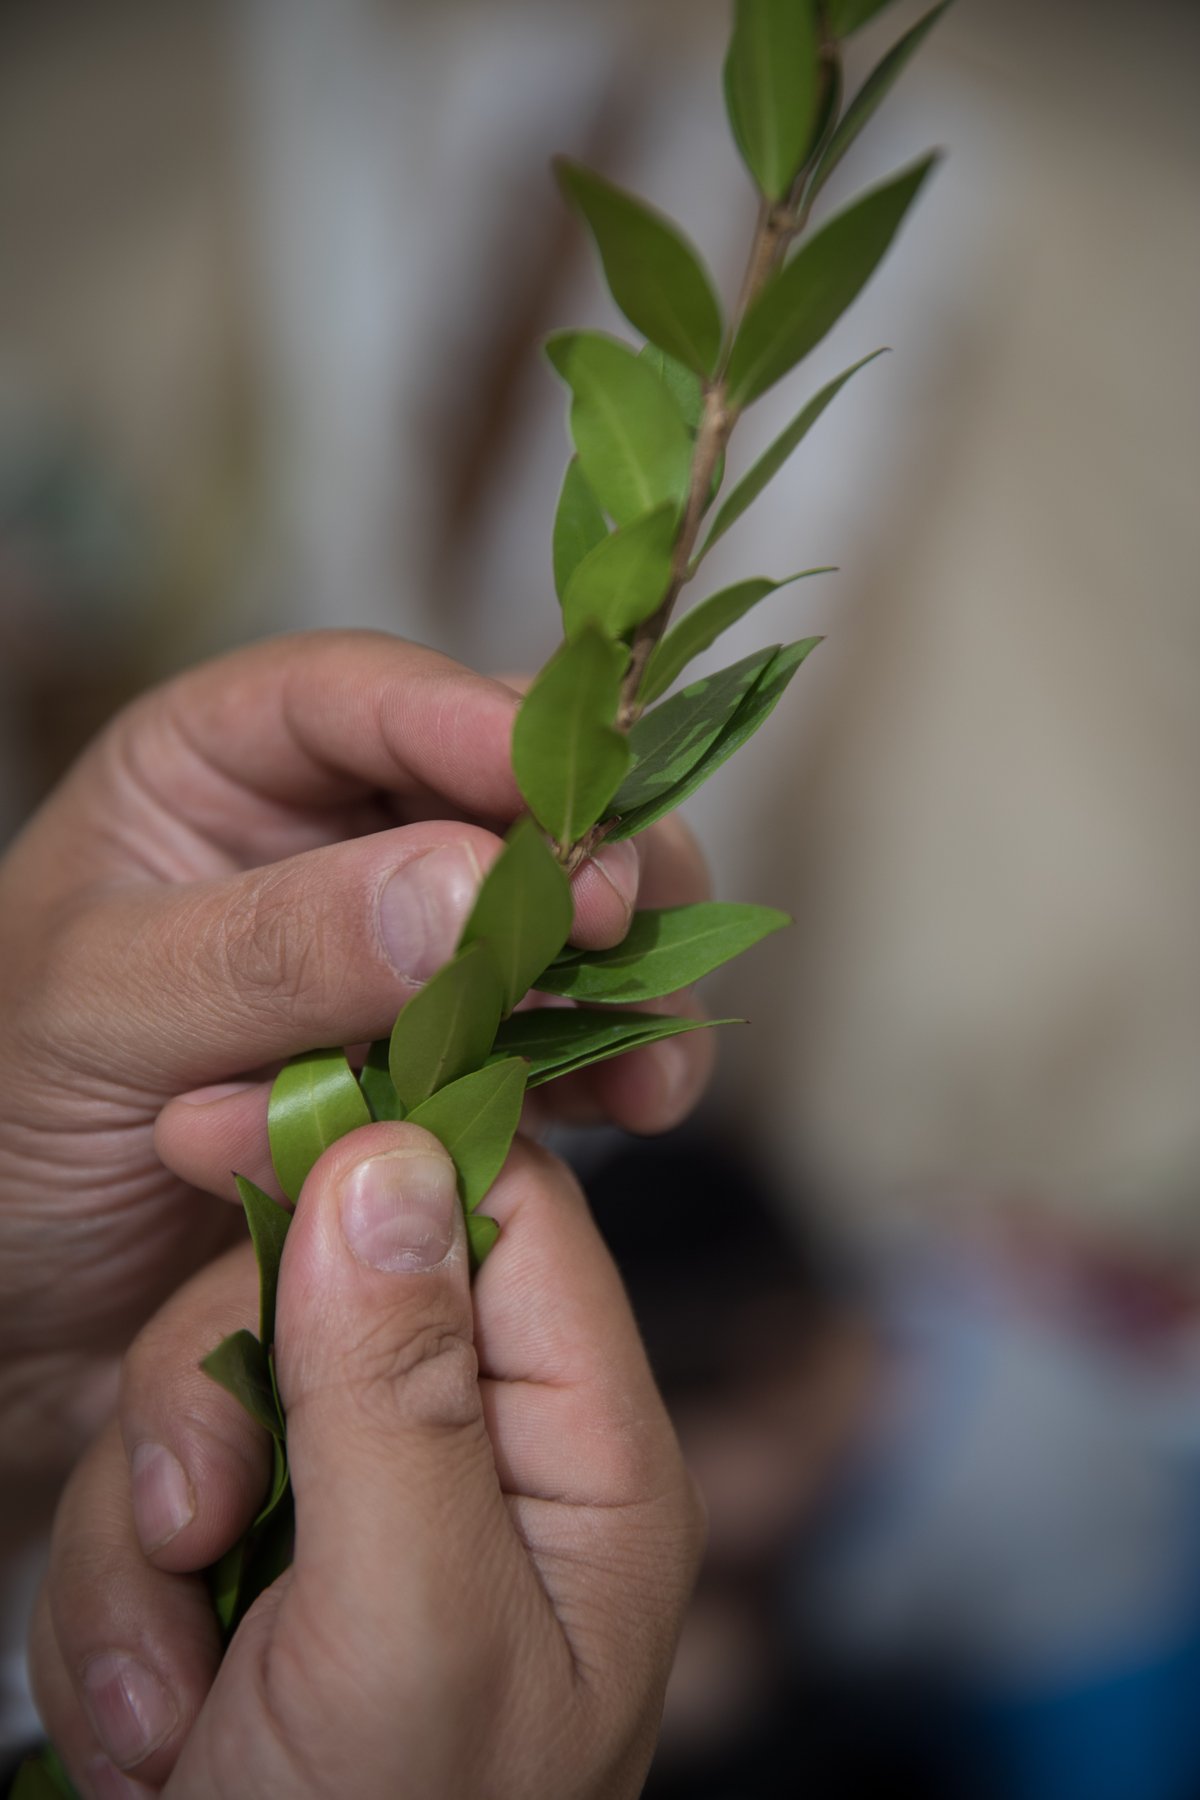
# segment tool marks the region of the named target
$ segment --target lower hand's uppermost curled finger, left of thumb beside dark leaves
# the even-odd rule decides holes
[[[133,1526],[157,1568],[203,1570],[250,1526],[266,1496],[270,1444],[200,1361],[257,1330],[257,1269],[241,1244],[155,1314],[121,1377]]]

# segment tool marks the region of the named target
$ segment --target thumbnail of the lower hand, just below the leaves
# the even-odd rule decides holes
[[[453,1244],[457,1204],[448,1156],[392,1150],[360,1163],[342,1184],[342,1235],[371,1269],[435,1269]]]

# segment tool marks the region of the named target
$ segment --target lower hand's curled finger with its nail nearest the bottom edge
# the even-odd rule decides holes
[[[115,1771],[158,1787],[212,1685],[219,1640],[203,1582],[151,1568],[137,1544],[115,1424],[59,1505],[47,1615],[34,1681],[72,1771],[97,1796],[122,1793]]]

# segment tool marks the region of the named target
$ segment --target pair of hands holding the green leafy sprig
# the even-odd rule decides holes
[[[241,1534],[266,1465],[196,1372],[254,1321],[245,1247],[212,1260],[241,1235],[214,1195],[232,1168],[270,1184],[270,1066],[383,1035],[452,952],[520,805],[515,706],[385,637],[263,644],[122,715],[0,868],[9,1492],[58,1485],[176,1296],[72,1480],[36,1629],[47,1726],[101,1800],[167,1777],[340,1795],[347,1769],[362,1795],[637,1791],[696,1507],[615,1273],[540,1152],[489,1199],[473,1350],[453,1206],[430,1265],[371,1267],[340,1224],[360,1168],[387,1174],[392,1224],[412,1193],[434,1208],[435,1141],[371,1127],[327,1152],[279,1300],[297,1562],[216,1685],[191,1573]],[[640,846],[578,873],[574,941],[703,891],[678,826]],[[556,1098],[657,1129],[709,1055],[707,1033],[667,1040]]]

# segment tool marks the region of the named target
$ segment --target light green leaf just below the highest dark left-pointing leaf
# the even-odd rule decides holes
[[[570,387],[570,436],[587,482],[619,526],[684,504],[691,437],[653,369],[599,331],[561,331],[545,353]]]

